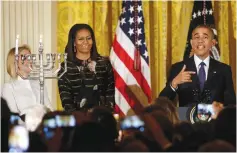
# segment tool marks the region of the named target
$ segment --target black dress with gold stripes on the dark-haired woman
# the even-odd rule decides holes
[[[94,70],[88,68],[92,60],[67,62],[67,72],[58,80],[59,94],[65,111],[85,110],[106,106],[113,111],[114,75],[108,58],[98,56]],[[64,71],[64,63],[59,75]]]

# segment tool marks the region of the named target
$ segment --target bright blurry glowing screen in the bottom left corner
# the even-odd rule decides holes
[[[29,133],[24,126],[14,126],[9,133],[9,152],[24,152],[29,147]]]

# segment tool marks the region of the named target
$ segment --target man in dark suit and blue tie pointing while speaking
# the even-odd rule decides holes
[[[215,45],[212,29],[197,26],[192,32],[191,45],[194,56],[172,65],[166,87],[159,96],[174,100],[178,94],[181,107],[201,101],[235,104],[230,66],[210,57],[210,49]]]

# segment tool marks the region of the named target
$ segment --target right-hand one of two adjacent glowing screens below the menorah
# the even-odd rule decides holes
[[[58,127],[74,127],[76,125],[73,115],[56,115],[55,120]]]

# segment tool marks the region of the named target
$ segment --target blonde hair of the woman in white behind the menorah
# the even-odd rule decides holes
[[[12,79],[17,78],[16,68],[15,68],[15,50],[16,48],[10,49],[7,55],[7,73],[11,76]],[[20,54],[23,50],[28,50],[31,52],[28,45],[22,45],[18,47],[18,53]]]

